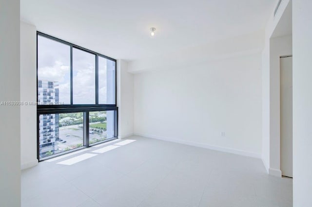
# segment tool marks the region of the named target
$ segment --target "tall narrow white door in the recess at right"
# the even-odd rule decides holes
[[[281,171],[292,177],[292,57],[280,58]]]

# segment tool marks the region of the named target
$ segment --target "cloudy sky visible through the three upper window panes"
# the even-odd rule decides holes
[[[73,48],[73,104],[95,104],[95,62],[94,54]],[[99,104],[113,104],[107,103],[107,92],[115,96],[115,78],[107,91],[106,76],[107,64],[115,62],[103,57],[98,62]],[[59,82],[59,102],[70,104],[70,46],[38,36],[38,80]]]

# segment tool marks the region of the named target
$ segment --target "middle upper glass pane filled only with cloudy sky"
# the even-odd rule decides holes
[[[73,48],[73,104],[96,104],[95,57]]]

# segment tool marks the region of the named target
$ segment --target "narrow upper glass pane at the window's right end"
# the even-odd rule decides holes
[[[98,57],[98,104],[115,104],[115,61]]]

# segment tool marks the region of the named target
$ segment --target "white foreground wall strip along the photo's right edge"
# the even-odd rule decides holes
[[[312,206],[312,1],[293,0],[293,206]]]

